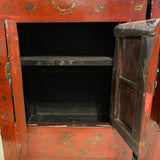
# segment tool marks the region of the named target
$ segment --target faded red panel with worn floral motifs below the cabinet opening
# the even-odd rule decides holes
[[[132,156],[130,148],[109,125],[28,126],[28,137],[29,154],[33,157],[130,160]]]

